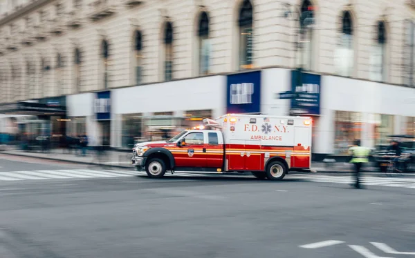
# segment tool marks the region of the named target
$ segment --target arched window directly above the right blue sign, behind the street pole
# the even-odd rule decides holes
[[[301,5],[301,16],[299,18],[300,28],[300,65],[304,70],[311,70],[313,64],[313,24],[314,6],[310,0],[303,0]]]

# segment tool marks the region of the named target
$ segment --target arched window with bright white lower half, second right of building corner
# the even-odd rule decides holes
[[[344,11],[335,59],[338,74],[350,77],[353,72],[353,60],[353,21],[351,13]]]

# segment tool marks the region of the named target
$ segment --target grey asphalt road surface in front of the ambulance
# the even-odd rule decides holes
[[[1,155],[0,167],[84,168]],[[290,178],[0,181],[0,257],[415,256],[375,246],[415,252],[415,188]]]

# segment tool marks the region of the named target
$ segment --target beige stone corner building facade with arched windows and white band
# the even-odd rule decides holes
[[[275,97],[293,89],[291,70],[321,75],[319,114],[304,114],[317,115],[317,153],[412,132],[415,1],[0,3],[0,103],[66,96],[68,131],[113,147],[128,145],[133,117],[223,114],[228,74],[250,70],[261,71],[256,112],[272,115],[293,108]],[[108,96],[95,92],[107,91],[110,116],[99,119]]]

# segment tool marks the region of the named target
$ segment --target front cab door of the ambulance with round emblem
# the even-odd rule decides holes
[[[203,132],[190,132],[185,139],[185,146],[181,146],[181,151],[174,154],[177,167],[205,168],[206,157],[203,149],[205,148]]]

